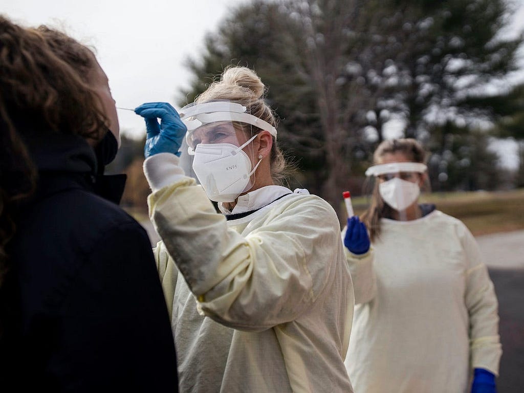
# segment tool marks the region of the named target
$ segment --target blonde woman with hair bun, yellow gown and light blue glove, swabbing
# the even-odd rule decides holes
[[[148,128],[148,202],[180,388],[351,392],[354,298],[340,224],[318,196],[280,185],[264,91],[254,71],[233,67],[180,117],[166,103],[135,110]],[[201,185],[177,156],[186,127],[188,174]]]

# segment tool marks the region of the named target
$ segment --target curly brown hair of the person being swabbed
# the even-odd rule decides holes
[[[107,132],[100,98],[89,86],[96,64],[88,47],[62,32],[21,27],[0,15],[0,285],[17,205],[37,179],[23,140],[70,134],[97,141]]]

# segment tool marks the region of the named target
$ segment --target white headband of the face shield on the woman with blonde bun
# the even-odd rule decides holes
[[[199,127],[209,123],[218,122],[241,122],[251,124],[257,128],[267,130],[277,139],[277,129],[268,122],[246,113],[246,107],[228,101],[213,101],[203,104],[189,104],[181,108],[180,119],[188,128],[185,135],[188,143],[189,154],[194,154],[192,147],[191,135]]]

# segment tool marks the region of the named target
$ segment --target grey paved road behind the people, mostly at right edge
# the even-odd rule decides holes
[[[152,244],[159,237],[150,222],[143,223]],[[524,231],[478,236],[499,301],[503,356],[499,393],[524,392]]]

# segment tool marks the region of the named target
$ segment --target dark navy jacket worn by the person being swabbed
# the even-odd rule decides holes
[[[124,182],[94,176],[93,149],[79,137],[32,145],[38,190],[8,247],[0,390],[178,391],[147,233],[95,193],[119,200]]]

